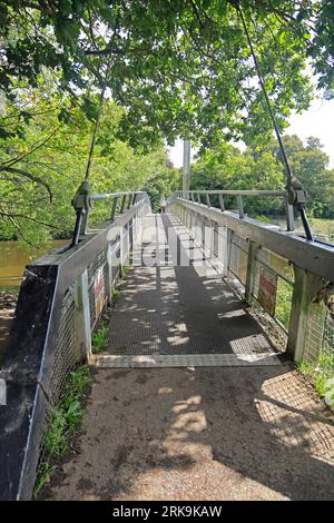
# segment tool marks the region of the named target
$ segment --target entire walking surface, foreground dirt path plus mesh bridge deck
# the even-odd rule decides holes
[[[45,497],[332,500],[332,415],[173,216],[148,216],[143,239],[134,256],[151,266],[121,287],[81,434]]]

